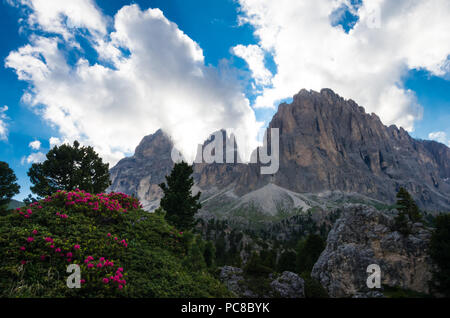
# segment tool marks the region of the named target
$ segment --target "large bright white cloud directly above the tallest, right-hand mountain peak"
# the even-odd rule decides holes
[[[450,71],[447,0],[363,0],[356,6],[348,0],[239,3],[240,23],[255,28],[259,47],[273,55],[277,66],[255,107],[274,107],[301,88],[328,87],[386,124],[411,131],[422,108],[403,77],[414,68],[437,76]],[[348,33],[339,24],[343,8],[359,17]]]

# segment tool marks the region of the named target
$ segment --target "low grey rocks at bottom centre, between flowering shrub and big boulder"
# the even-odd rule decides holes
[[[255,279],[255,278],[253,278]],[[224,266],[220,271],[220,280],[227,286],[228,290],[233,292],[238,297],[245,298],[304,298],[305,297],[305,282],[295,273],[283,272],[281,276],[276,279],[271,277],[259,278],[267,281],[267,289],[252,290],[251,283],[247,282],[244,277],[244,271],[240,268],[232,266]],[[261,294],[262,293],[262,294]]]

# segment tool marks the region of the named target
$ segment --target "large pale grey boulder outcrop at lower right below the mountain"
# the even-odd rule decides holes
[[[397,211],[378,211],[364,205],[347,205],[328,234],[327,245],[312,270],[312,277],[331,297],[368,295],[367,267],[381,270],[382,286],[428,293],[432,263],[428,256],[430,230],[411,224],[412,233],[395,231]]]

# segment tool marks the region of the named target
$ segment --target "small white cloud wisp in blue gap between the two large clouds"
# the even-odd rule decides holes
[[[259,46],[237,45],[233,47],[232,52],[247,62],[256,85],[270,84],[272,73],[265,67],[264,51]]]

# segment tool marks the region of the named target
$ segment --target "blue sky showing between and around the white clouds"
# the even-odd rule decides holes
[[[61,127],[59,126],[60,123],[58,121],[51,120],[48,118],[48,116],[46,119],[44,119],[45,116],[43,115],[43,110],[48,109],[46,108],[47,105],[44,104],[42,105],[42,107],[33,108],[29,105],[29,103],[21,101],[24,93],[29,91],[30,88],[35,87],[39,94],[44,90],[44,88],[39,86],[42,85],[42,83],[38,85],[32,80],[23,81],[18,79],[16,71],[20,69],[20,67],[23,67],[23,65],[17,66],[17,63],[24,63],[23,61],[25,60],[18,59],[19,62],[15,62],[15,67],[6,67],[6,59],[11,54],[11,52],[17,51],[19,48],[30,44],[31,36],[37,34],[38,36],[50,38],[51,36],[54,36],[54,34],[52,32],[48,32],[48,30],[45,30],[43,26],[32,28],[30,26],[27,26],[26,22],[24,21],[19,22],[19,19],[26,19],[30,14],[30,11],[33,12],[32,8],[27,8],[27,11],[24,11],[23,6],[11,6],[6,0],[1,1],[0,34],[2,41],[0,41],[0,59],[2,61],[2,67],[0,68],[0,107],[6,105],[8,106],[8,110],[3,112],[3,114],[7,116],[6,118],[2,119],[7,125],[7,139],[0,140],[0,160],[6,161],[17,174],[19,178],[19,184],[21,185],[22,189],[20,195],[18,195],[16,198],[23,199],[30,193],[30,184],[26,172],[29,169],[31,162],[27,162],[26,158],[30,154],[37,153],[38,151],[30,148],[30,142],[39,140],[41,142],[39,152],[45,153],[50,147],[50,138],[56,137],[63,140],[65,138],[70,139],[70,136],[72,135],[69,136],[67,132],[61,130]],[[282,36],[283,33],[280,33],[279,39],[273,39],[269,37],[265,38],[265,35],[261,36],[260,32],[262,32],[262,27],[258,24],[258,21],[263,21],[263,19],[267,17],[265,17],[263,13],[257,11],[258,8],[252,8],[251,4],[247,4],[247,2],[244,0],[241,2],[232,0],[155,0],[133,2],[123,0],[97,0],[95,3],[97,5],[97,9],[101,11],[101,15],[107,17],[107,19],[110,20],[113,19],[114,15],[122,7],[131,3],[138,4],[140,10],[142,11],[148,8],[159,8],[163,12],[167,20],[175,23],[178,26],[179,30],[183,31],[193,42],[197,43],[201,48],[204,56],[204,60],[202,62],[202,64],[204,65],[202,66],[203,71],[213,69],[217,70],[217,72],[221,74],[217,76],[222,79],[225,78],[225,81],[227,76],[231,78],[230,81],[233,82],[234,89],[240,90],[250,103],[252,112],[254,112],[255,114],[256,121],[264,122],[265,124],[267,124],[267,122],[275,113],[276,105],[280,100],[289,100],[290,96],[295,93],[295,90],[298,91],[303,86],[306,86],[302,85],[303,83],[309,83],[307,78],[294,78],[293,81],[299,83],[299,85],[302,86],[297,88],[295,88],[296,86],[294,86],[291,90],[288,90],[288,93],[286,93],[283,87],[281,87],[281,85],[283,85],[282,83],[285,83],[282,81],[283,78],[291,78],[293,76],[292,74],[286,73],[286,67],[284,67],[285,64],[283,64],[286,63],[284,61],[287,59],[287,56],[289,56],[288,53],[286,53],[289,48],[289,43],[286,44],[284,42],[281,42],[284,38]],[[358,14],[360,12],[358,10],[362,6],[362,4],[362,1],[351,1],[347,3],[347,6],[342,5],[341,7],[333,11],[333,14],[330,15],[330,27],[334,29],[342,28],[342,32],[347,34],[348,36],[359,36],[357,31],[363,31],[359,31],[359,29],[357,30],[356,28],[358,28]],[[417,9],[417,14],[420,13],[419,9],[420,8]],[[293,8],[292,10],[295,10],[295,8]],[[37,11],[37,9],[35,9],[35,11]],[[251,15],[250,13],[253,13],[253,15]],[[259,20],[255,18],[255,15],[258,16],[258,14],[260,15]],[[247,18],[247,23],[239,23],[239,17]],[[300,15],[299,19],[301,20]],[[400,16],[398,17],[398,19],[400,19]],[[318,21],[319,20],[320,19],[318,19]],[[274,19],[274,26],[276,26],[276,23],[279,23],[279,21],[276,21],[276,19]],[[362,25],[362,23],[360,24]],[[20,27],[22,27],[22,29],[19,31]],[[288,32],[290,32],[289,30],[295,30],[296,27],[300,28],[300,26],[296,25],[286,26],[286,28],[284,28],[284,26],[282,27],[283,30],[286,30],[285,34],[287,35],[289,34]],[[354,27],[355,30],[352,30]],[[439,25],[437,25],[437,27],[439,27]],[[445,27],[445,25],[443,25],[443,27]],[[359,28],[362,29],[362,27]],[[439,30],[439,28],[437,28],[437,30]],[[114,31],[114,27],[112,23],[109,23],[108,32],[110,33],[111,31]],[[270,28],[263,31],[267,31],[264,34],[269,34]],[[368,30],[366,32],[372,31]],[[448,33],[448,29],[442,29],[441,32]],[[295,34],[295,32],[293,34]],[[149,37],[151,37],[151,34],[149,34]],[[90,42],[92,41],[92,39],[90,39],[90,37],[84,38],[83,33],[77,33],[75,39],[82,48],[81,51],[70,48],[70,46],[67,45],[67,43],[70,42],[64,42],[63,40],[60,40],[61,43],[59,48],[61,50],[64,50],[64,52],[66,53],[65,56],[67,57],[68,65],[74,66],[77,63],[78,59],[80,57],[83,57],[89,61],[89,64],[91,66],[99,63],[101,65],[104,65],[105,67],[109,66],[114,69],[114,66],[110,66],[108,62],[105,62],[105,60],[101,60],[99,58],[100,55],[93,48],[92,42]],[[238,45],[242,45],[245,48],[253,48],[255,50],[244,50],[244,53],[249,53],[246,55],[246,57],[243,58],[242,54],[238,54],[236,53],[237,51],[233,51],[233,48]],[[311,43],[311,45],[313,44]],[[178,48],[178,46],[176,47]],[[445,49],[446,48],[444,48],[444,50]],[[442,50],[442,47],[436,47],[436,52],[440,52],[441,55]],[[257,64],[256,62],[256,64],[251,64],[251,61],[257,61],[257,57],[261,56],[259,52],[262,52],[262,64]],[[128,52],[127,54],[129,53],[130,52]],[[450,50],[447,51],[447,54],[449,53]],[[126,58],[127,55],[124,53],[123,57]],[[299,55],[299,58],[302,59],[302,56]],[[339,58],[339,56],[337,56],[337,58]],[[425,58],[422,58],[419,53],[414,56],[406,54],[405,57],[403,57],[403,60],[405,59],[408,60],[406,66],[403,64],[396,65],[396,67],[398,66],[398,69],[400,71],[398,72],[399,75],[395,73],[398,78],[395,83],[392,84],[395,87],[400,87],[404,96],[407,97],[406,101],[406,97],[402,99],[402,101],[405,101],[404,110],[399,110],[399,113],[397,114],[386,113],[385,117],[381,116],[382,119],[387,118],[390,120],[390,118],[392,118],[393,122],[398,122],[401,124],[402,121],[398,120],[398,118],[401,117],[401,111],[405,111],[405,116],[406,114],[409,114],[408,112],[410,112],[414,116],[417,115],[416,113],[414,113],[414,110],[412,110],[412,108],[407,105],[408,103],[414,102],[420,105],[421,109],[423,110],[423,115],[421,116],[421,118],[420,116],[416,116],[416,118],[414,118],[414,129],[411,131],[411,135],[416,138],[429,139],[430,133],[440,132],[441,134],[438,134],[438,136],[440,136],[441,140],[445,141],[445,138],[447,138],[447,141],[450,140],[450,77],[448,76],[448,72],[446,73],[444,71],[439,73],[438,71],[435,71],[435,64],[433,64],[434,61],[431,61],[433,62],[431,63],[430,61],[425,60]],[[307,60],[307,58],[304,58],[304,60]],[[48,60],[46,60],[46,62],[50,63]],[[310,65],[307,65],[305,63],[295,65],[293,64],[293,67],[297,67],[298,65],[297,73],[305,74],[305,76],[307,77],[308,73],[304,71],[304,68],[317,70],[317,66],[313,65],[314,67],[310,67]],[[268,76],[270,77],[270,79],[266,82],[263,82],[262,79],[258,82],[259,77],[257,76],[257,71],[261,71],[261,68],[265,68],[267,72],[264,74],[268,74]],[[278,68],[280,70],[279,73]],[[178,68],[176,71],[178,72]],[[283,72],[286,73],[286,76],[283,75]],[[277,79],[276,77],[277,74],[279,76],[279,79]],[[386,78],[387,75],[380,75],[379,78]],[[211,76],[213,76],[213,80],[210,80],[210,82],[216,79],[216,75]],[[349,76],[355,76],[355,80],[358,81],[360,78],[358,76],[361,75],[350,74]],[[228,90],[231,90],[231,88],[228,88],[228,84],[222,83],[221,80],[217,81],[218,83],[220,83],[217,84],[218,86],[220,86],[217,88],[218,96],[235,96],[233,95],[235,94],[234,92],[228,92]],[[181,84],[177,85],[183,85],[183,82],[180,83]],[[279,84],[280,87],[277,87],[277,83],[281,83]],[[311,83],[311,87],[306,88],[316,89],[317,85],[326,85],[328,83],[330,83],[331,85],[333,81],[329,78],[322,78],[317,81],[317,84],[312,80]],[[284,86],[286,86],[286,84]],[[358,97],[360,96],[358,95],[358,93],[355,93],[355,96],[346,96],[344,94],[345,92],[341,92],[335,87],[330,88],[334,89],[343,97],[354,98],[359,103],[365,103],[364,97],[360,97],[360,99],[358,100]],[[216,87],[214,87],[213,91],[215,91],[215,89]],[[409,90],[411,92],[407,93],[409,92]],[[226,93],[224,93],[224,91],[226,91]],[[270,103],[268,103],[271,105],[268,105],[269,107],[260,107],[259,104],[261,103],[261,101],[267,101],[268,99],[265,98],[265,96],[271,96],[271,92],[275,96],[270,100]],[[377,92],[374,92],[373,94],[376,93]],[[352,92],[350,91],[348,94],[351,95]],[[42,103],[43,100],[48,100],[46,99],[47,97],[44,98],[42,96],[43,93],[41,94],[41,97],[39,97],[40,99],[36,98],[36,101],[38,103]],[[259,100],[257,100],[257,98],[259,98]],[[238,99],[238,97],[236,97],[236,99]],[[133,103],[134,102],[136,101],[133,100]],[[205,104],[208,104],[208,102],[209,100],[205,100]],[[139,104],[139,102],[136,103]],[[239,101],[238,103],[242,104],[242,101]],[[67,106],[71,107],[70,104]],[[377,105],[374,105],[372,109],[378,109],[376,107]],[[384,114],[383,112],[386,112],[385,108],[379,109],[382,114]],[[237,110],[236,113],[240,114],[241,111]],[[0,113],[0,115],[2,115],[2,113]],[[233,113],[231,113],[230,116],[233,116]],[[249,119],[249,116],[251,117],[251,114],[243,119],[242,122],[247,122],[249,120],[251,121],[251,119]],[[2,117],[0,117],[0,119],[1,118]],[[211,119],[211,121],[214,120],[216,119]],[[145,127],[139,131],[136,131],[136,137],[132,139],[132,145],[129,145],[129,147],[124,147],[122,146],[122,144],[112,145],[110,149],[108,149],[107,151],[105,150],[105,153],[113,153],[116,150],[120,150],[120,152],[118,153],[120,153],[121,155],[131,154],[132,150],[136,146],[135,140],[138,140],[139,134],[142,134],[143,137],[145,134],[152,133],[159,122],[163,123],[163,121],[156,120],[155,123],[149,125],[147,132]],[[409,123],[410,122],[408,122],[407,124]],[[86,137],[86,135],[88,135],[89,133],[89,131],[80,132],[81,136],[83,137]],[[176,135],[177,132],[174,132],[174,134]],[[90,140],[95,140],[94,138],[97,137],[87,136],[85,139],[86,143],[89,143]],[[102,138],[104,138],[104,136]]]

